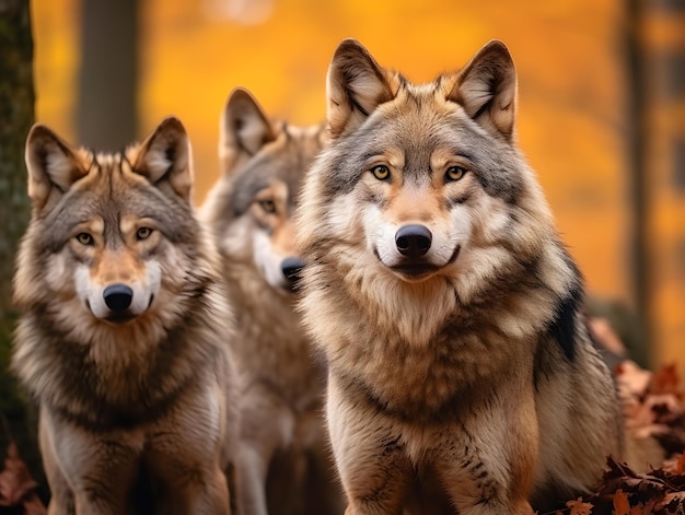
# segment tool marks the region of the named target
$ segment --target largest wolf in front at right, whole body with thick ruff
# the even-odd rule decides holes
[[[357,40],[297,212],[348,515],[541,513],[619,456],[583,281],[515,139],[509,50],[423,84]]]

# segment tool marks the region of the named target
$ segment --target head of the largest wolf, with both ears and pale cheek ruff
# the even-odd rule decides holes
[[[448,278],[463,301],[533,260],[554,229],[515,145],[515,100],[500,42],[416,85],[344,40],[327,75],[330,142],[302,192],[302,251],[355,277]]]

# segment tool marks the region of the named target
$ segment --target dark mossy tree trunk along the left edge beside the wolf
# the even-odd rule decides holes
[[[16,320],[12,306],[14,256],[30,214],[24,143],[34,121],[34,102],[28,0],[0,0],[0,417],[8,421],[0,424],[0,459],[13,438],[45,499],[35,412],[27,409],[8,371]]]

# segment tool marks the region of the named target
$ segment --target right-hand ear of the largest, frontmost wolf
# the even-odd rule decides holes
[[[513,139],[516,71],[502,42],[491,40],[461,71],[448,100],[461,104],[483,128]]]

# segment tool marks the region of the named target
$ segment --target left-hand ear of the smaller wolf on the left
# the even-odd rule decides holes
[[[43,209],[51,196],[63,195],[88,173],[69,144],[42,124],[28,131],[24,157],[35,209]]]

